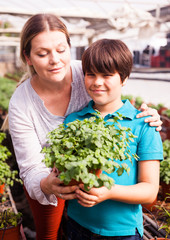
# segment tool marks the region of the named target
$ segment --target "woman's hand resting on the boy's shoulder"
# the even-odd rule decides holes
[[[148,107],[145,103],[143,103],[140,107],[141,113],[139,113],[136,117],[145,117],[148,115],[151,115],[152,117],[148,117],[145,119],[145,122],[149,122],[150,126],[155,126],[157,127],[157,131],[161,131],[162,127],[162,121],[160,120],[160,115],[158,114],[158,111],[154,108]]]

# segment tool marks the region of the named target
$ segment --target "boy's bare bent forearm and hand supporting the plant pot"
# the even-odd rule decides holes
[[[138,183],[135,185],[115,184],[111,190],[101,187],[86,192],[81,184],[76,190],[78,202],[84,207],[92,207],[108,199],[129,204],[152,203],[159,189],[159,165],[157,160],[139,161]]]

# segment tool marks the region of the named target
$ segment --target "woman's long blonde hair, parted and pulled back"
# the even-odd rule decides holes
[[[27,78],[32,77],[34,74],[36,74],[34,67],[28,66],[25,55],[27,57],[30,56],[32,39],[39,33],[47,30],[63,32],[66,36],[68,45],[71,46],[67,27],[56,15],[40,13],[30,17],[23,26],[20,39],[20,58],[22,60],[23,66],[26,68],[26,73],[23,75],[17,86],[23,83]],[[5,131],[8,128],[7,115],[2,124],[1,130]]]

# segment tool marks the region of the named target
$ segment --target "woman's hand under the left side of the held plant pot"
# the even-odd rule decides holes
[[[61,182],[57,176],[58,172],[53,169],[48,177],[41,180],[40,186],[43,193],[47,195],[54,194],[56,197],[64,200],[76,198],[75,190],[78,186],[63,186],[63,182]]]

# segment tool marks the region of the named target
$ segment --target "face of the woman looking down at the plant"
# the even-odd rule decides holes
[[[70,47],[60,31],[39,33],[31,41],[27,63],[33,66],[40,80],[60,82],[70,71]]]

